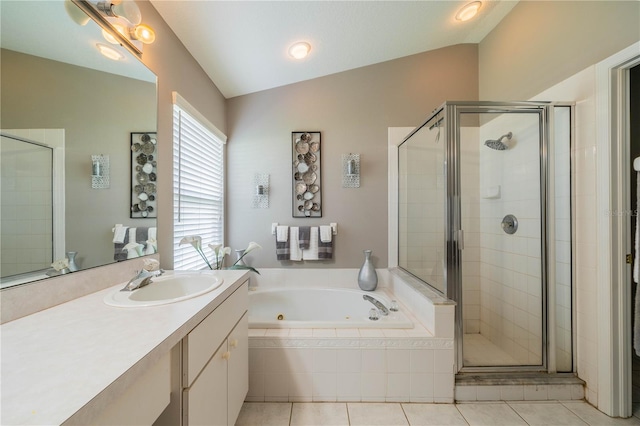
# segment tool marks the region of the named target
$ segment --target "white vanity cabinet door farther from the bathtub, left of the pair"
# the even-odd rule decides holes
[[[213,355],[202,373],[183,393],[183,424],[227,424],[227,342]]]

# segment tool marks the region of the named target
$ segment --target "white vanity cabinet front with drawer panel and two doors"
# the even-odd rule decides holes
[[[182,424],[233,425],[249,390],[248,282],[182,342]]]

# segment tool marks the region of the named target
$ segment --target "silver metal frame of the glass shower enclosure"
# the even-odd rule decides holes
[[[440,123],[444,120],[443,136],[441,140],[446,143],[444,175],[445,175],[445,212],[444,212],[444,235],[446,261],[444,265],[444,295],[456,301],[455,317],[455,342],[456,342],[456,372],[555,372],[555,347],[554,333],[549,326],[549,320],[554,321],[553,309],[549,309],[549,276],[555,274],[555,262],[548,259],[555,259],[554,227],[549,227],[550,220],[554,220],[554,188],[550,185],[553,178],[553,158],[549,158],[550,134],[553,131],[553,108],[573,107],[572,103],[560,102],[476,102],[448,101],[436,108],[421,126],[409,133],[402,143],[407,141],[413,134],[421,128],[433,123]],[[542,349],[540,365],[517,365],[517,366],[464,366],[463,362],[463,277],[462,277],[462,250],[464,249],[464,231],[462,227],[462,204],[461,204],[461,165],[459,159],[461,154],[460,124],[462,114],[536,114],[538,118],[538,134],[540,141],[540,260],[541,260],[541,300],[542,300]],[[573,108],[571,110],[571,133],[570,147],[573,146]],[[434,121],[435,120],[435,121]],[[506,131],[505,131],[506,133]],[[402,143],[400,145],[402,145]],[[571,182],[569,183],[572,184]],[[573,211],[573,202],[570,204]],[[573,235],[573,225],[571,229]],[[573,238],[572,238],[573,241]],[[573,271],[573,248],[571,249],[571,276],[575,276]],[[408,271],[410,272],[410,271]],[[555,291],[555,289],[554,289]],[[550,312],[551,311],[551,312]],[[576,333],[575,333],[575,291],[573,278],[571,278],[571,369],[575,370],[576,353]],[[551,317],[551,318],[550,318]]]

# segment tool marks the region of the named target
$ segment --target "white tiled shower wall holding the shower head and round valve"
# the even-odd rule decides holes
[[[504,151],[483,145],[511,131]],[[518,364],[542,363],[538,117],[505,114],[480,132],[480,332]],[[496,191],[497,198],[488,192]],[[501,221],[516,216],[507,234]]]

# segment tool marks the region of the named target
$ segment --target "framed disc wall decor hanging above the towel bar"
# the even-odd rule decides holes
[[[320,132],[291,132],[293,217],[322,217]]]

